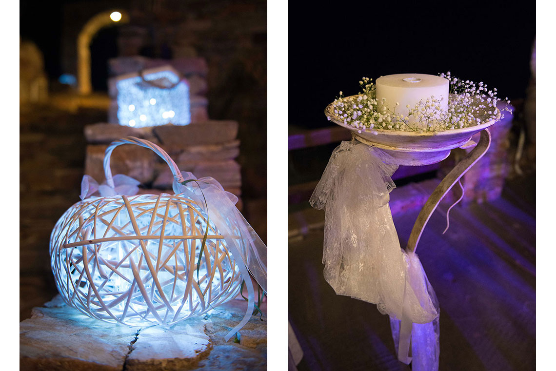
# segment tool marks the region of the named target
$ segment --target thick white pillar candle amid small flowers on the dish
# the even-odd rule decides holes
[[[382,111],[383,102],[387,112],[395,112],[407,116],[408,106],[411,109],[419,101],[426,101],[430,96],[435,99],[444,98],[440,102],[440,109],[448,109],[448,89],[450,82],[440,76],[428,75],[423,73],[398,73],[394,75],[382,76],[376,79],[376,99],[378,108]],[[396,103],[399,103],[396,106]],[[409,121],[415,121],[410,117]]]

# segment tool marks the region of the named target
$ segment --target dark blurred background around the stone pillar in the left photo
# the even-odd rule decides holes
[[[110,122],[108,78],[117,73],[109,64],[115,58],[204,63],[197,70],[204,75],[191,81],[206,97],[206,117],[198,121],[235,122],[239,154],[230,141],[241,169],[236,191],[246,219],[266,243],[266,1],[20,4],[20,320],[56,294],[49,234],[79,200],[91,139],[85,127]],[[91,91],[80,93],[77,40],[93,17],[113,9],[128,22],[92,35]]]

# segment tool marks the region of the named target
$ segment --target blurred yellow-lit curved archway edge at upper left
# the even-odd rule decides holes
[[[119,12],[121,19],[114,21],[111,19],[113,12]],[[95,17],[83,26],[83,29],[77,37],[77,82],[80,94],[91,94],[91,51],[89,46],[95,34],[104,27],[113,26],[115,23],[122,24],[129,22],[129,15],[127,12],[118,10],[111,10],[98,13]]]

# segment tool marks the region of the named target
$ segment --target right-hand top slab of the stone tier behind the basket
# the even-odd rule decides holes
[[[234,141],[237,130],[237,121],[216,120],[191,123],[186,126],[163,125],[153,128],[162,146],[176,148]]]

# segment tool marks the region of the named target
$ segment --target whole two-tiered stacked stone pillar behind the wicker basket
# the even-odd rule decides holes
[[[171,66],[190,84],[191,123],[186,126],[132,128],[118,124],[116,76],[137,73],[146,69]],[[210,120],[206,75],[207,64],[203,58],[151,59],[140,56],[111,59],[109,94],[112,99],[108,123],[85,127],[87,153],[85,174],[105,180],[103,158],[112,141],[133,136],[147,139],[162,147],[176,162],[181,171],[195,174],[197,178],[215,178],[228,192],[241,195],[240,141],[237,139],[236,121]],[[115,149],[111,159],[112,174],[126,174],[142,183],[141,193],[173,193],[172,174],[167,164],[152,151],[137,146]],[[241,199],[237,207],[241,209]]]

